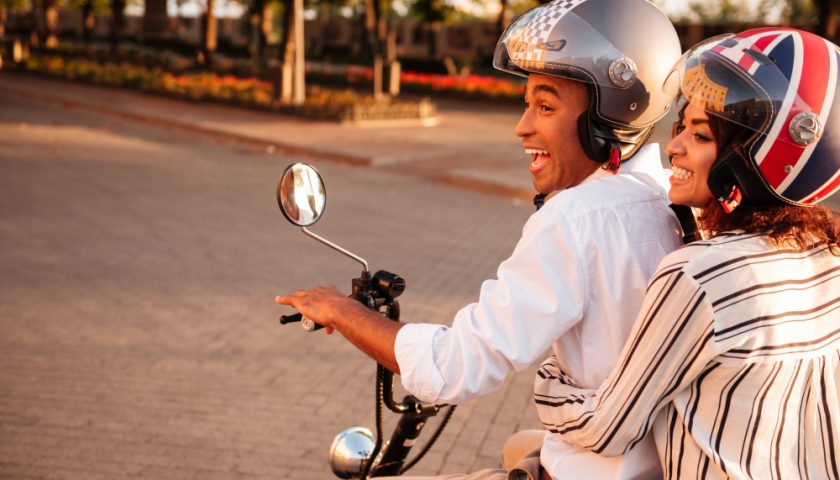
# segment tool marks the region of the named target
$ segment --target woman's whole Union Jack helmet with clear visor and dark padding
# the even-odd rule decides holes
[[[724,145],[709,171],[727,211],[814,205],[840,189],[838,64],[833,43],[777,27],[714,37],[677,62],[666,83],[679,79],[687,102],[751,132]]]

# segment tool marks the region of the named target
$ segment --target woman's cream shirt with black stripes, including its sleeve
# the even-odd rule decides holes
[[[534,385],[553,434],[619,455],[653,429],[666,478],[840,478],[840,257],[758,235],[662,261],[599,389],[549,358]]]

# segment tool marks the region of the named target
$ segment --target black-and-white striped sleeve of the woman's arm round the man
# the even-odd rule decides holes
[[[534,383],[540,420],[563,440],[596,453],[626,453],[644,438],[658,410],[714,359],[713,326],[700,285],[678,267],[660,267],[630,340],[600,388],[576,386],[554,357],[543,363]]]

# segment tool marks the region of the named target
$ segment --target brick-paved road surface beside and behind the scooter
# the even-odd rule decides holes
[[[359,267],[276,209],[296,158],[0,92],[0,478],[332,478],[372,427],[372,362],[281,327],[277,293]],[[315,229],[408,279],[404,320],[448,321],[531,208],[314,162]],[[456,412],[418,473],[497,463],[536,426],[533,371]]]

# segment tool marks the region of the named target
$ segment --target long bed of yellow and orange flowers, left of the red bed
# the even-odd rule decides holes
[[[303,105],[284,104],[274,98],[271,82],[215,73],[176,75],[159,68],[128,63],[99,63],[81,58],[30,56],[26,69],[96,85],[130,87],[193,101],[213,101],[334,121],[429,118],[435,115],[428,99],[419,102],[379,100],[350,90],[307,90]]]

